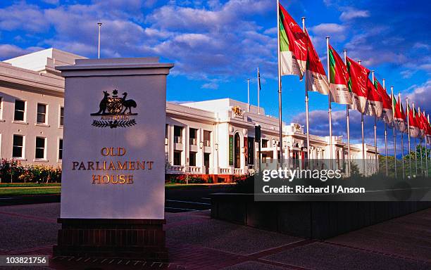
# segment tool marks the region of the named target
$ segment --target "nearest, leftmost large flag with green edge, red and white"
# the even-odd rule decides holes
[[[301,27],[279,4],[281,75],[304,77],[307,61],[307,37]]]

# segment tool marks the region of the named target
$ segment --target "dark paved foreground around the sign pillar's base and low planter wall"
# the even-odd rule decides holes
[[[51,256],[59,212],[59,203],[0,207],[0,255]],[[208,210],[166,219],[169,264],[54,257],[22,269],[431,269],[431,209],[325,241],[211,219]]]

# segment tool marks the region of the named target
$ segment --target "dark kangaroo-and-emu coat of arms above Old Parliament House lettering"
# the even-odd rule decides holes
[[[127,99],[127,92],[123,93],[123,98],[118,96],[118,90],[112,91],[112,96],[108,91],[104,91],[104,98],[99,103],[99,111],[92,113],[92,116],[101,116],[100,120],[93,120],[94,127],[132,127],[136,124],[135,119],[130,116],[137,115],[132,113],[132,108],[137,104],[132,99]]]

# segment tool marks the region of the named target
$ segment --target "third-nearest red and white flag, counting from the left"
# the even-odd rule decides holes
[[[351,93],[347,85],[349,84],[349,72],[338,53],[329,46],[328,58],[330,61],[330,92],[332,101],[339,104],[351,104]]]

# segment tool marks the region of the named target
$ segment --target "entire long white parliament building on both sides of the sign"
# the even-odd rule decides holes
[[[64,79],[57,65],[84,58],[46,49],[0,62],[0,156],[24,164],[61,165]],[[278,120],[263,108],[230,98],[194,103],[166,103],[167,173],[213,175],[221,179],[247,174],[257,149],[254,127],[261,126],[262,160],[278,155]],[[285,160],[306,158],[306,134],[299,124],[283,126]],[[329,137],[310,136],[313,159],[330,158]],[[347,158],[347,145],[333,136],[332,157]],[[374,147],[366,145],[367,159]],[[351,145],[351,158],[362,158],[361,145]]]

